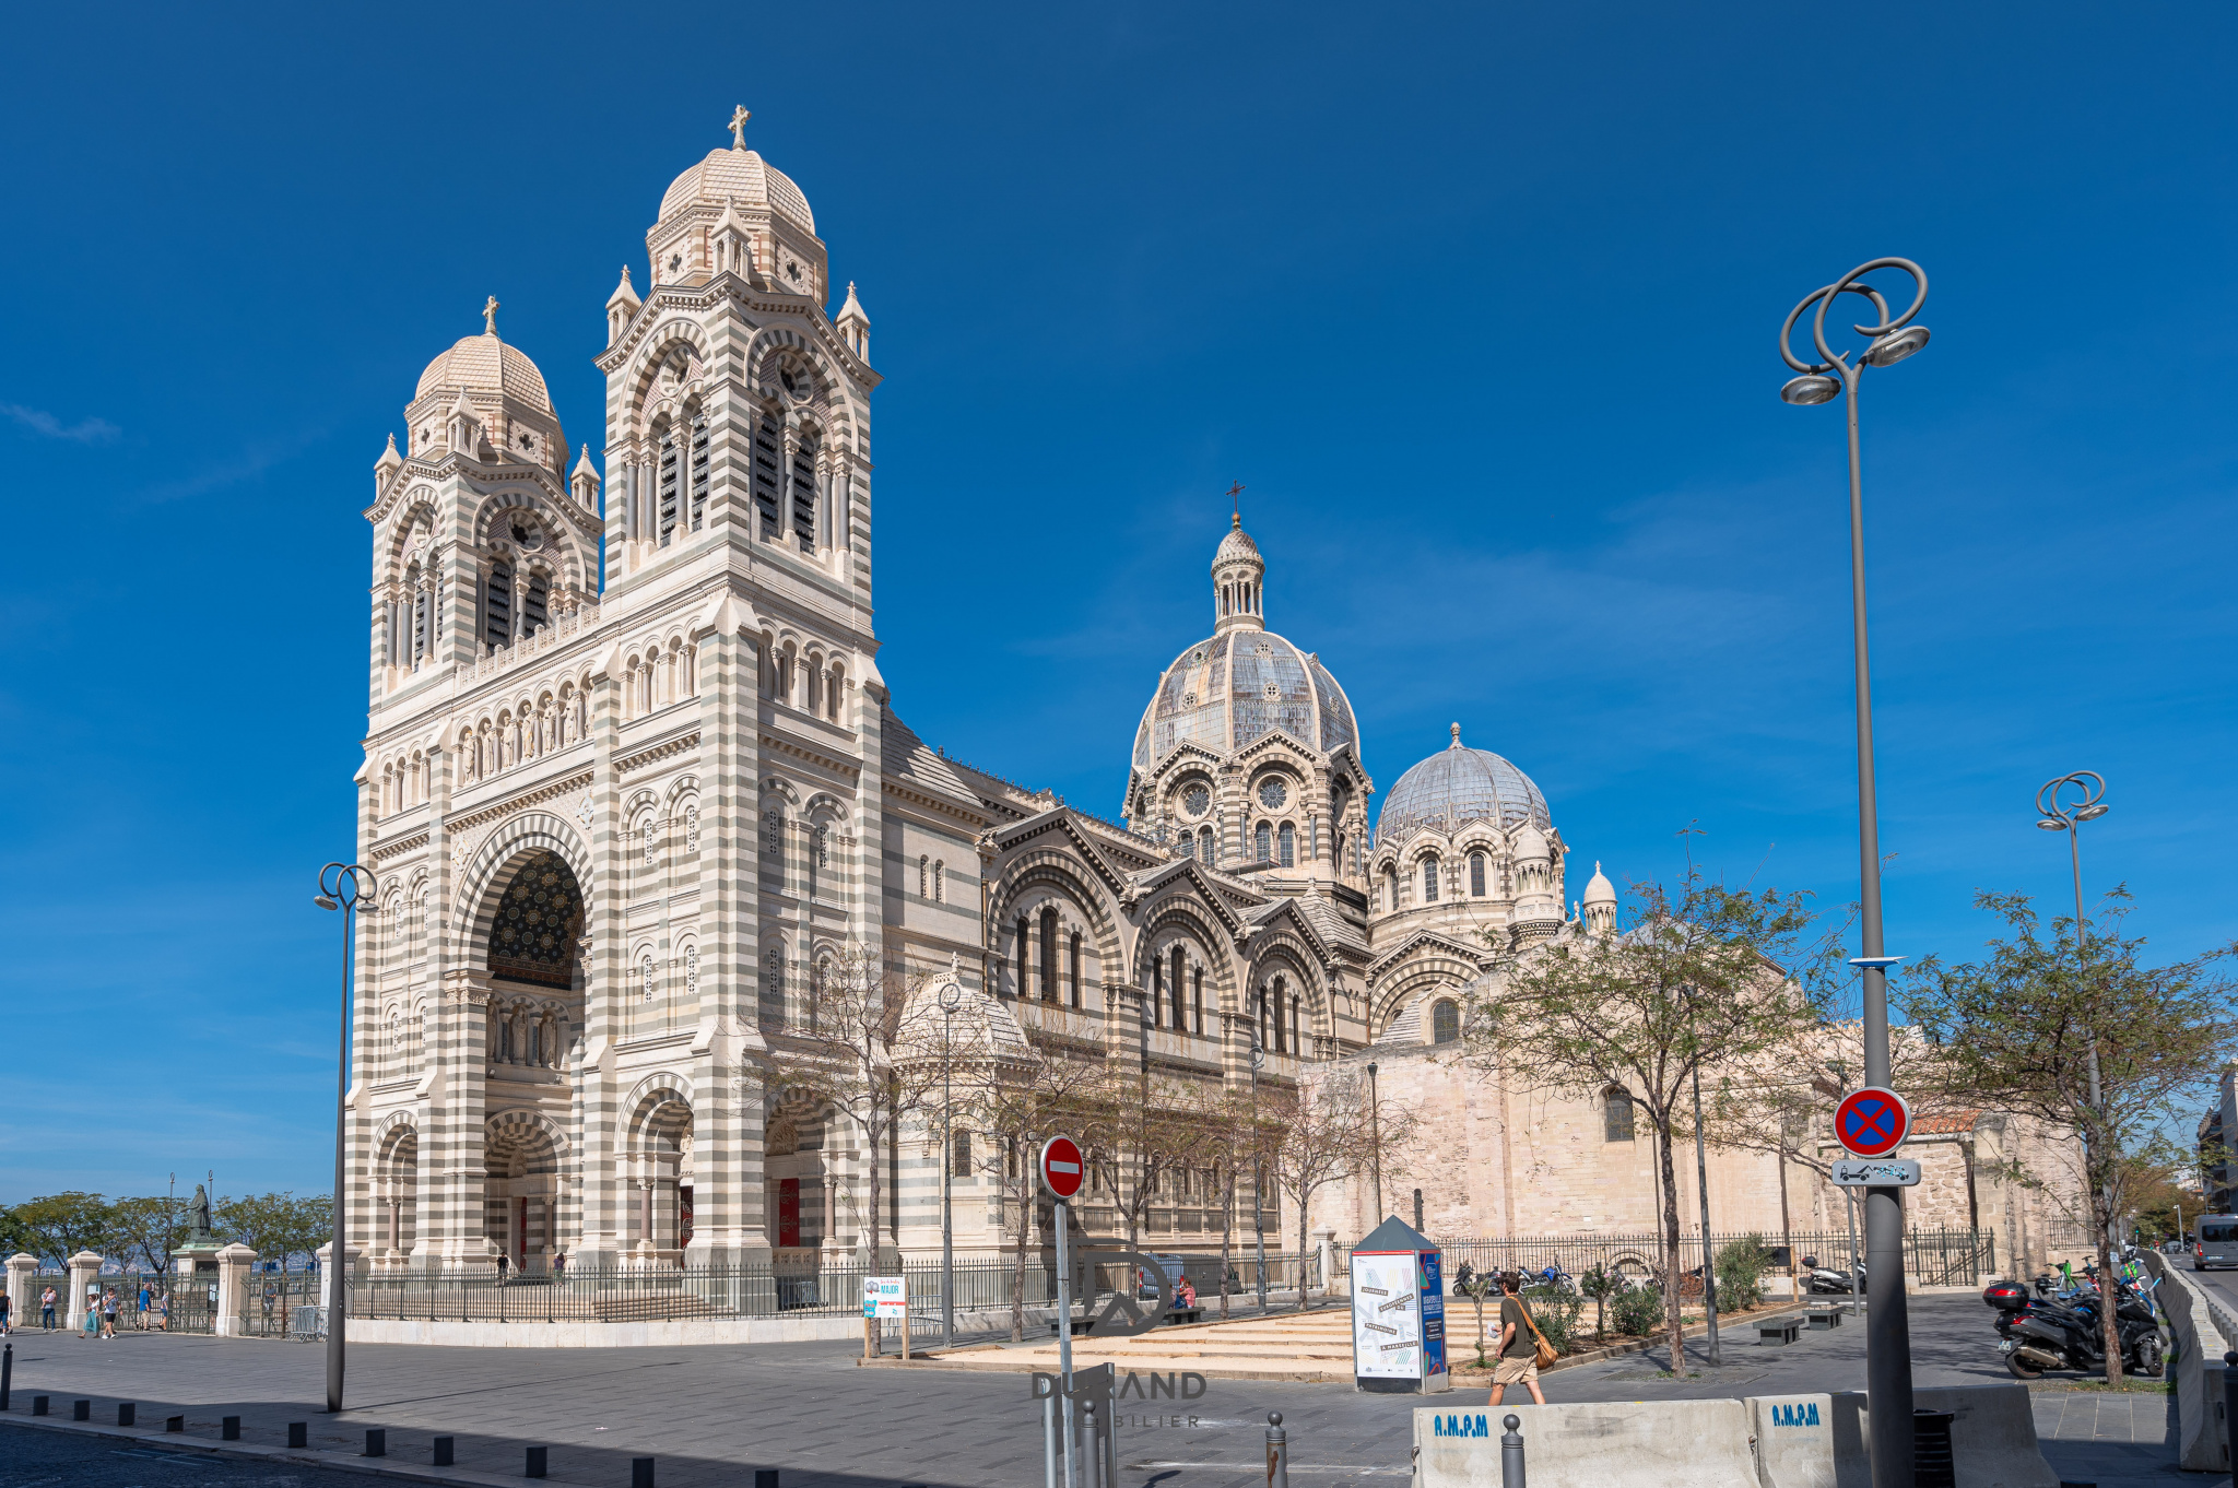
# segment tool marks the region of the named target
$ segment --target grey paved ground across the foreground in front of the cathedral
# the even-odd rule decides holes
[[[1972,1296],[1911,1300],[1920,1385],[2010,1383],[1994,1352],[1983,1305]],[[935,1369],[859,1369],[855,1349],[835,1343],[676,1347],[676,1349],[439,1349],[358,1345],[349,1352],[349,1405],[340,1419],[318,1412],[325,1352],[318,1345],[246,1338],[128,1334],[87,1343],[65,1334],[16,1334],[11,1421],[29,1414],[31,1394],[94,1401],[94,1421],[114,1421],[114,1401],[137,1401],[139,1419],[184,1412],[188,1437],[213,1439],[224,1414],[242,1416],[251,1443],[282,1445],[289,1421],[311,1423],[311,1448],[354,1454],[369,1425],[387,1428],[389,1461],[427,1463],[436,1434],[457,1439],[459,1481],[479,1475],[519,1481],[524,1448],[551,1448],[557,1484],[629,1484],[629,1459],[658,1459],[660,1488],[725,1488],[752,1481],[745,1468],[779,1468],[783,1488],[1032,1488],[1041,1481],[1038,1407],[1023,1376]],[[1692,1378],[1661,1378],[1643,1356],[1627,1356],[1546,1378],[1546,1398],[1625,1401],[1853,1390],[1864,1376],[1864,1329],[1804,1334],[1786,1349],[1759,1349],[1755,1331],[1730,1340],[1725,1363],[1696,1358]],[[1466,1396],[1482,1401],[1482,1392]],[[1209,1381],[1197,1401],[1123,1401],[1119,1459],[1123,1488],[1249,1488],[1264,1484],[1262,1441],[1269,1410],[1280,1410],[1300,1484],[1403,1481],[1412,1396],[1367,1396],[1350,1385]],[[2043,1454],[2070,1481],[2099,1488],[2198,1484],[2175,1477],[2173,1401],[2162,1394],[2034,1396]],[[1175,1414],[1182,1412],[1182,1414]],[[9,1430],[0,1488],[81,1481],[34,1470],[51,1448],[13,1443]],[[45,1437],[45,1432],[40,1432]],[[119,1443],[110,1443],[119,1445]],[[101,1459],[114,1466],[110,1459]],[[98,1481],[181,1481],[192,1468],[154,1459],[143,1477]],[[107,1468],[103,1468],[107,1470]],[[255,1472],[204,1468],[192,1481],[278,1481]],[[291,1466],[293,1472],[293,1466]],[[231,1475],[231,1477],[217,1477]],[[468,1477],[474,1475],[474,1477]],[[327,1488],[325,1475],[295,1475],[300,1488]],[[85,1479],[96,1481],[96,1479]],[[356,1479],[365,1481],[365,1479]],[[483,1479],[486,1481],[486,1479]]]

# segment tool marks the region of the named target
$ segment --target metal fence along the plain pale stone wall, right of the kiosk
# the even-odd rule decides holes
[[[1775,1253],[1772,1271],[1786,1271],[1788,1258],[1779,1253],[1779,1233],[1730,1233],[1710,1235],[1712,1253],[1730,1244],[1757,1240]],[[1846,1271],[1853,1260],[1864,1258],[1864,1228],[1855,1237],[1842,1231],[1793,1231],[1790,1244],[1795,1262],[1815,1258],[1822,1266]],[[1596,1264],[1618,1271],[1634,1282],[1658,1280],[1663,1275],[1661,1235],[1517,1235],[1513,1240],[1455,1237],[1439,1240],[1446,1275],[1455,1275],[1466,1262],[1473,1271],[1544,1271],[1553,1266],[1578,1278]],[[1701,1235],[1681,1235],[1678,1273],[1681,1291],[1701,1284]],[[1350,1249],[1345,1251],[1350,1255]],[[1994,1231],[1909,1231],[1905,1235],[1905,1275],[1920,1287],[1978,1287],[1996,1275]]]

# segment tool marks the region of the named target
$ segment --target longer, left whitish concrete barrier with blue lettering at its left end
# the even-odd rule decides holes
[[[1414,1488],[1499,1488],[1508,1414],[1522,1421],[1531,1488],[1761,1488],[1741,1401],[1417,1410]]]

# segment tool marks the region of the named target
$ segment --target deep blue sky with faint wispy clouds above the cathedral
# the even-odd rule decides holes
[[[1920,260],[1866,387],[1889,944],[2093,886],[2238,933],[2225,7],[47,7],[0,98],[0,1202],[325,1188],[374,456],[479,329],[595,439],[602,304],[727,141],[873,318],[902,716],[1115,814],[1244,481],[1388,792],[1855,893],[1840,409],[1775,333]],[[2225,846],[2218,846],[2225,844]]]

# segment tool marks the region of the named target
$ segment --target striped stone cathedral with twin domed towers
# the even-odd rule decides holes
[[[853,284],[828,311],[808,197],[743,110],[645,246],[604,307],[602,459],[492,298],[374,465],[347,1123],[372,1266],[841,1262],[868,1164],[880,1255],[938,1246],[922,1141],[868,1152],[763,1081],[850,947],[953,967],[1036,1045],[1213,1085],[1258,1047],[1296,1087],[1488,944],[1562,931],[1546,799],[1459,725],[1370,810],[1352,705],[1269,629],[1240,519],[1206,535],[1211,633],[1150,691],[1119,819],[929,747],[875,660],[871,320]],[[1605,877],[1578,911],[1614,915]],[[991,1251],[1000,1204],[951,1161],[958,1244]],[[1217,1235],[1209,1188],[1159,1195],[1150,1240]]]

